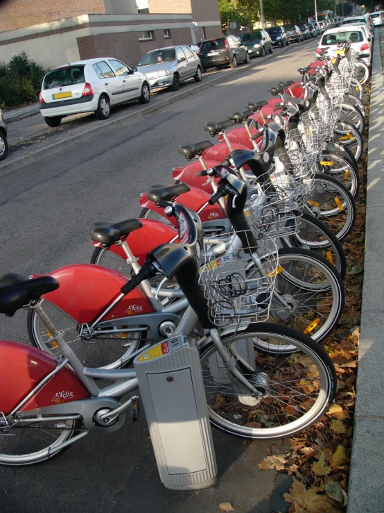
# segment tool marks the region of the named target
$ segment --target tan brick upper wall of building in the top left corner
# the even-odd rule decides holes
[[[104,0],[3,0],[0,32],[83,14],[105,13]]]

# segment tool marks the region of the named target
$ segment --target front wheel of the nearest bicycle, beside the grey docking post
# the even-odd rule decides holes
[[[336,389],[335,369],[313,340],[270,323],[250,324],[221,340],[247,363],[243,375],[263,396],[256,399],[236,387],[209,339],[200,349],[200,362],[209,417],[216,428],[244,438],[287,437],[310,428],[328,410]],[[260,349],[276,345],[292,347],[293,353]]]

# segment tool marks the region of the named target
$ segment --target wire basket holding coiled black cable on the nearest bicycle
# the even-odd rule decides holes
[[[255,239],[252,230],[204,238],[199,282],[216,326],[268,319],[279,272],[277,246],[262,233],[256,246]]]

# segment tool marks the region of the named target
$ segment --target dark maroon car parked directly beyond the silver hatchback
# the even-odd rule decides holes
[[[238,62],[250,62],[247,47],[238,42],[233,35],[224,35],[203,41],[199,57],[202,70],[209,67],[230,66],[236,68]]]

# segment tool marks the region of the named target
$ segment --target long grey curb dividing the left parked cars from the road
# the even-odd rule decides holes
[[[304,41],[301,44],[307,42],[308,41]],[[202,83],[200,82],[196,85],[193,85],[193,87],[188,87],[188,89],[186,89],[185,91],[172,94],[172,96],[169,96],[166,99],[162,99],[156,103],[149,103],[148,106],[143,107],[140,110],[136,110],[134,112],[126,112],[120,117],[113,117],[112,119],[108,119],[102,125],[91,127],[83,133],[81,133],[80,135],[69,136],[58,142],[53,142],[52,144],[49,144],[48,146],[45,146],[42,149],[33,151],[33,153],[31,153],[30,155],[23,155],[22,157],[16,158],[15,160],[12,160],[12,162],[5,161],[3,162],[3,164],[0,165],[0,176],[5,176],[6,174],[11,173],[16,169],[20,169],[21,167],[24,167],[28,164],[33,164],[33,162],[37,162],[37,160],[41,160],[42,158],[48,157],[49,155],[53,155],[54,153],[58,153],[62,149],[67,149],[71,146],[76,146],[81,142],[85,142],[91,139],[91,137],[94,137],[95,135],[104,133],[106,130],[109,130],[110,128],[122,126],[126,123],[126,121],[132,121],[133,119],[138,119],[143,115],[155,112],[155,110],[159,110],[163,107],[170,105],[171,103],[175,103],[180,99],[186,98],[191,94],[200,92],[206,89],[207,87],[210,87],[211,85],[225,82],[226,80],[231,80],[234,76],[238,76],[239,74],[242,74],[248,71],[249,69],[252,69],[252,67],[257,66],[262,62],[271,60],[274,57],[274,55],[279,55],[280,53],[283,53],[288,49],[290,49],[290,47],[283,47],[279,51],[274,50],[274,53],[272,53],[271,55],[258,58],[256,60],[256,63],[250,62],[249,65],[242,65],[239,68],[232,69],[231,71],[219,74],[218,76],[213,76],[213,78],[209,78],[209,80],[207,80],[206,82],[203,81]],[[38,109],[37,112],[39,112],[39,110],[40,109]]]

